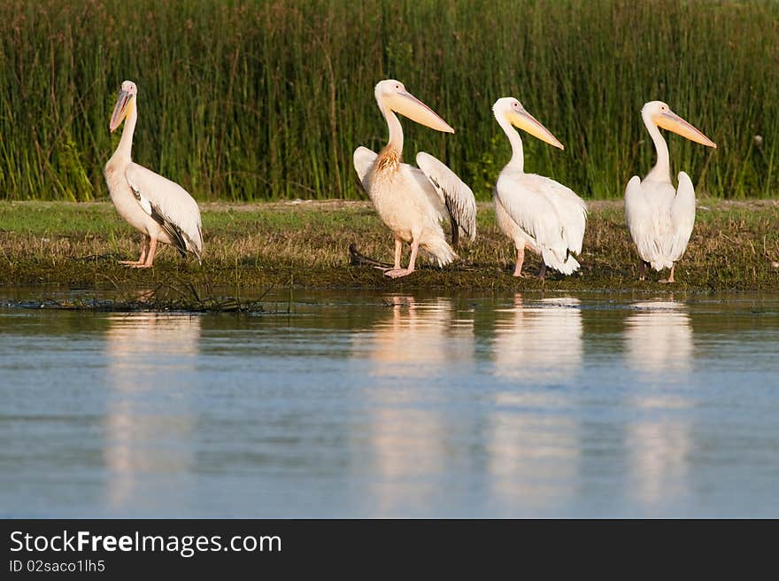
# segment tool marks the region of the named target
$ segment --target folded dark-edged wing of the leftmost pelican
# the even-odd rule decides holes
[[[164,229],[174,246],[182,253],[193,252],[201,260],[203,229],[200,208],[187,190],[162,175],[130,163],[125,172],[135,199]]]

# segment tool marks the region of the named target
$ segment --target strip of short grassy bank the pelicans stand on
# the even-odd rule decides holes
[[[775,291],[779,288],[779,200],[702,199],[690,247],[673,288],[662,276],[638,282],[636,255],[621,202],[590,203],[580,261],[570,277],[515,279],[513,245],[499,232],[491,205],[478,213],[478,236],[460,260],[423,267],[390,280],[372,267],[350,266],[348,246],[390,261],[392,238],[365,202],[209,204],[203,208],[204,262],[181,260],[169,247],[150,270],[122,267],[137,258],[141,236],[111,204],[0,203],[0,284],[63,284],[72,288],[189,289],[204,296],[227,289],[249,297],[270,287],[482,290]],[[405,251],[404,262],[407,259]],[[525,272],[540,266],[527,255]],[[667,274],[667,273],[666,273]]]

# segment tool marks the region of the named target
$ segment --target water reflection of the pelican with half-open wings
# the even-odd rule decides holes
[[[461,318],[446,298],[393,296],[385,303],[388,316],[354,338],[366,376],[366,423],[355,434],[366,455],[357,469],[371,476],[366,510],[440,515],[441,478],[458,454],[442,402],[453,395],[456,368],[474,363],[473,319]]]

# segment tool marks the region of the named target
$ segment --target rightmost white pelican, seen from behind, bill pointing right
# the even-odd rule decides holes
[[[661,101],[645,104],[641,118],[652,136],[658,161],[643,182],[637,175],[630,178],[625,188],[625,220],[641,260],[639,280],[644,280],[647,265],[652,265],[658,271],[670,268],[671,275],[660,282],[673,283],[675,262],[687,250],[695,223],[695,190],[684,172],[679,172],[679,187],[674,189],[668,146],[658,128],[709,147],[717,145]]]

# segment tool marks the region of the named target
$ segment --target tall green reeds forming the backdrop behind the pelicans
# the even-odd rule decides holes
[[[777,73],[775,2],[0,0],[0,198],[103,198],[124,79],[135,159],[195,198],[357,198],[351,151],[385,142],[388,77],[458,130],[406,121],[407,158],[439,156],[478,198],[509,157],[490,111],[506,95],[567,146],[525,136],[528,171],[585,197],[652,166],[651,99],[719,144],[668,136],[699,191],[775,196]]]

